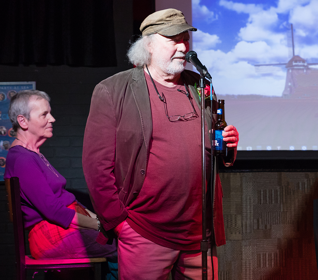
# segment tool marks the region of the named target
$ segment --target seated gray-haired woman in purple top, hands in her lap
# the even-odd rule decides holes
[[[24,90],[11,98],[9,117],[17,132],[7,155],[4,178],[19,177],[24,227],[36,259],[107,257],[117,266],[117,246],[95,241],[100,222],[65,190],[66,179],[40,153],[52,137],[50,97]],[[109,265],[110,266],[110,265]]]

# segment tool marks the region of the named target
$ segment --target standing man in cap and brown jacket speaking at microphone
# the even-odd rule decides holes
[[[194,88],[200,75],[184,70],[189,30],[197,29],[180,11],[167,9],[148,16],[140,30],[128,51],[137,67],[95,87],[86,124],[83,170],[103,226],[99,241],[117,235],[120,279],[162,280],[170,271],[173,279],[201,279],[201,112]],[[213,100],[213,114],[216,106]],[[210,139],[210,101],[206,107]],[[223,160],[231,165],[239,133],[232,125],[225,131],[229,152]],[[213,210],[208,236],[216,259],[215,245],[225,244],[218,174]],[[211,250],[208,255],[211,279]],[[214,267],[217,279],[215,261]]]

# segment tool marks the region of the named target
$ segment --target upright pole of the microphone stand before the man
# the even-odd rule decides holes
[[[201,72],[201,71],[200,71]],[[201,240],[201,252],[202,252],[202,280],[208,279],[208,249],[209,243],[206,240],[206,179],[205,179],[205,81],[204,75],[201,73],[199,82],[201,89],[201,147],[202,147],[202,240]],[[212,89],[211,89],[212,90]]]

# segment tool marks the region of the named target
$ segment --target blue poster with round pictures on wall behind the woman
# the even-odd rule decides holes
[[[35,82],[0,82],[0,181],[3,181],[5,160],[15,132],[8,115],[11,97],[20,90],[35,90]]]

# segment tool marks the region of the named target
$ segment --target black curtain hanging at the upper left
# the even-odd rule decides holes
[[[0,64],[117,65],[113,0],[2,0],[0,11]]]

